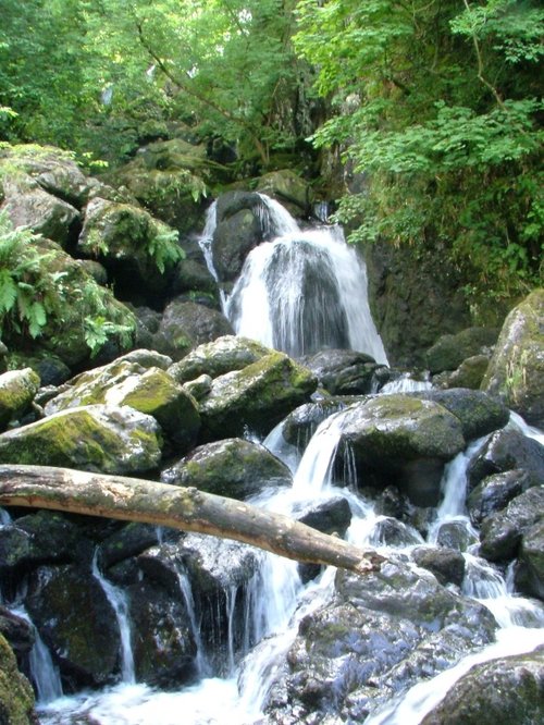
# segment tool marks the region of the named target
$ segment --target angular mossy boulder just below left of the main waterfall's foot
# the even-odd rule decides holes
[[[215,378],[200,403],[208,440],[235,438],[249,429],[268,433],[316,389],[316,378],[284,353],[271,353],[242,370]]]

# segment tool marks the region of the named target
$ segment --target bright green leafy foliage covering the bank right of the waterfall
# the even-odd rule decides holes
[[[542,283],[544,13],[517,0],[462,8],[301,0],[296,44],[335,108],[313,143],[339,147],[366,179],[339,204],[353,241],[448,255],[478,303]]]

